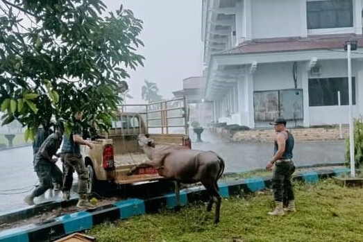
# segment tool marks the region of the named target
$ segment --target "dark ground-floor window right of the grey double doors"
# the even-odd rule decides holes
[[[353,105],[355,105],[355,78],[352,78],[352,85]],[[338,91],[340,91],[341,105],[348,105],[348,78],[309,79],[309,106],[338,105]]]

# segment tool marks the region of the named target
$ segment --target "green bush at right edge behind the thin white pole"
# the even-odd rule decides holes
[[[359,168],[363,164],[363,122],[362,118],[354,121],[354,154],[355,154],[355,167]],[[349,137],[346,138],[346,166],[351,166],[351,151],[349,146]]]

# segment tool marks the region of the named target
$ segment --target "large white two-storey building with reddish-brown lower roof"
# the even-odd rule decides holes
[[[348,123],[348,40],[358,43],[353,115],[363,114],[362,10],[363,0],[203,0],[214,120],[250,128],[277,116],[290,126]]]

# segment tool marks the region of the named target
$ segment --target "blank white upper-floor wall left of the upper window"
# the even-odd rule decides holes
[[[302,21],[299,0],[253,0],[252,1],[252,37],[301,36]]]

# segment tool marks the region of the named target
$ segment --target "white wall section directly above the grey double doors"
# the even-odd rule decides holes
[[[293,62],[259,64],[253,74],[253,91],[295,88],[292,76]],[[298,73],[298,88],[301,88],[301,74]]]

